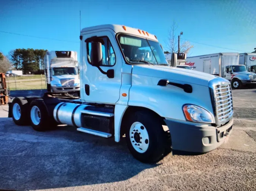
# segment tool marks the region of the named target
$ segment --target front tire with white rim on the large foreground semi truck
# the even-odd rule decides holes
[[[126,143],[133,157],[143,163],[155,163],[165,152],[166,136],[160,119],[151,111],[136,111],[125,124]]]

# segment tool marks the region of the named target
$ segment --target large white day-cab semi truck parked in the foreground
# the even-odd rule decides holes
[[[209,152],[228,140],[228,80],[170,67],[157,37],[140,29],[88,27],[80,40],[81,98],[17,97],[9,105],[17,125],[45,131],[66,124],[115,142],[125,137],[141,162],[159,161],[170,148]]]

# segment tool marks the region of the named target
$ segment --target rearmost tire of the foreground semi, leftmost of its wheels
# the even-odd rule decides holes
[[[16,97],[12,102],[12,117],[16,125],[29,124],[29,106],[25,97]]]

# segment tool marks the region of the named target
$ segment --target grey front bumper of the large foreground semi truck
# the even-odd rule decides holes
[[[227,141],[232,132],[233,119],[221,127],[200,123],[165,119],[171,134],[173,150],[209,152]]]

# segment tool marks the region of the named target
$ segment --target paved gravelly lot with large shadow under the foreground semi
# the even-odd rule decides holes
[[[59,126],[16,126],[0,106],[0,189],[256,190],[256,89],[234,90],[227,143],[201,155],[170,153],[157,164],[133,159],[115,143]]]

